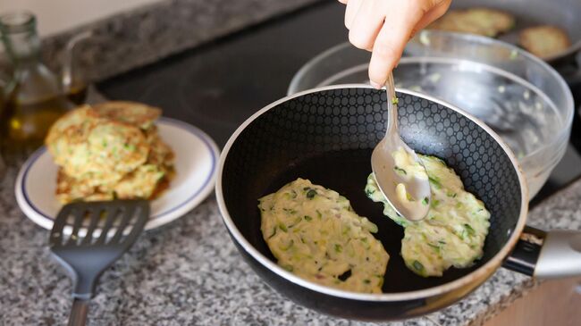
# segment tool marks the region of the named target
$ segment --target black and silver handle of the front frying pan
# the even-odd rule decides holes
[[[503,266],[539,279],[581,275],[581,231],[526,226]]]

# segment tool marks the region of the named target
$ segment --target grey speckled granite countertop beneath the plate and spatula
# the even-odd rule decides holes
[[[0,324],[63,324],[71,281],[50,257],[48,231],[15,204],[16,169],[0,184]],[[581,229],[581,180],[538,205],[529,223]],[[459,304],[395,325],[478,325],[536,283],[499,270]],[[107,270],[89,325],[366,325],[325,316],[285,299],[242,261],[210,196],[180,220],[149,231]]]

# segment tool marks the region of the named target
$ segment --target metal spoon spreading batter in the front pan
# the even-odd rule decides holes
[[[409,148],[400,138],[400,131],[398,130],[398,100],[395,96],[391,72],[385,88],[387,91],[389,119],[385,137],[375,146],[371,155],[371,169],[374,172],[377,186],[395,211],[409,221],[419,221],[425,217],[430,209],[429,204],[432,197],[430,182],[425,173],[424,163],[417,157],[416,152]],[[405,152],[401,152],[402,149]],[[408,157],[414,163],[414,171],[417,172],[406,171],[396,166],[394,154],[398,150],[404,155],[409,155]],[[400,184],[403,186],[400,186]],[[405,187],[405,196],[401,195],[401,187]],[[396,190],[396,188],[399,189]]]

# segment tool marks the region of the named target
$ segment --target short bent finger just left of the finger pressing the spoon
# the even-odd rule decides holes
[[[349,29],[349,42],[353,46],[367,51],[373,49],[375,38],[382,29],[385,18],[380,6],[381,2],[368,0],[360,5]]]

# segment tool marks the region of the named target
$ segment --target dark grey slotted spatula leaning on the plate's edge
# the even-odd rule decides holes
[[[99,276],[135,243],[148,217],[146,200],[63,206],[56,216],[49,243],[53,255],[72,276],[74,301],[69,325],[85,324],[88,301]]]

